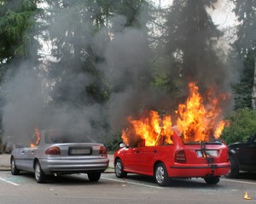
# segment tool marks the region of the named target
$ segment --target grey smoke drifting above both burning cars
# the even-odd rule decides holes
[[[144,16],[142,19],[145,20]],[[85,97],[88,103],[84,103],[83,108],[69,104],[56,108],[49,105],[49,92],[55,86],[49,85],[52,81],[47,75],[39,75],[42,67],[24,62],[15,67],[15,75],[13,72],[7,73],[8,80],[3,88],[6,99],[3,129],[10,135],[18,135],[15,142],[28,139],[35,127],[80,129],[93,140],[102,141],[110,134],[107,122],[113,133],[116,133],[125,126],[126,116],[138,116],[146,109],[175,111],[172,108],[177,104],[176,98],[170,92],[152,86],[152,64],[157,56],[149,47],[147,29],[125,27],[124,16],[115,16],[110,24],[111,28],[105,27],[95,36],[92,36],[92,28],[85,26],[90,30],[87,30],[90,33],[87,42],[78,42],[90,45],[93,52],[104,59],[96,64],[96,69],[104,73],[104,80],[111,90],[107,104],[91,103]],[[60,30],[61,24],[58,28]],[[182,36],[182,31],[177,36]],[[109,33],[113,37],[109,37]],[[226,54],[221,49],[223,46],[219,44],[223,41],[215,45],[215,53],[208,53],[209,58],[206,59],[203,57],[204,51],[196,51],[200,39],[201,36],[197,36],[194,42],[184,45],[190,48],[191,55],[186,55],[187,64],[183,66],[182,72],[174,71],[177,67],[171,63],[166,63],[166,69],[170,70],[172,79],[177,79],[184,86],[189,81],[195,81],[202,90],[213,85],[218,90],[229,91],[230,82],[235,76],[224,58]],[[172,39],[169,41],[172,42]],[[197,59],[202,57],[204,60],[194,59],[192,54],[195,52],[201,54]],[[54,77],[60,73],[56,74]],[[72,86],[67,93],[70,99],[75,99],[81,95],[81,87],[91,82],[92,76],[73,73],[69,79],[72,79]]]

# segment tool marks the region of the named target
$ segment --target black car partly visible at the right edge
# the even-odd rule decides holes
[[[227,178],[237,178],[240,172],[256,172],[256,134],[246,142],[229,145],[230,172]]]

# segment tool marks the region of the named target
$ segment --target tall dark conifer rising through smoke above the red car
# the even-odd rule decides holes
[[[161,46],[163,57],[169,63],[169,83],[172,86],[187,86],[198,82],[201,92],[214,88],[223,92],[229,88],[231,71],[224,65],[224,50],[218,49],[222,32],[212,22],[207,8],[214,8],[218,0],[173,1],[166,16],[166,32]],[[168,64],[167,64],[168,65]]]

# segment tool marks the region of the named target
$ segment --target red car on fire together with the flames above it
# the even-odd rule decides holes
[[[218,99],[210,91],[204,101],[195,83],[189,83],[189,90],[175,123],[157,111],[146,111],[139,119],[127,117],[124,144],[114,153],[118,178],[138,173],[154,176],[159,185],[169,178],[204,178],[207,184],[218,184],[230,171],[228,147],[219,139],[227,122],[221,119]]]

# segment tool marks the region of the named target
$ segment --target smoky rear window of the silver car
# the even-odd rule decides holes
[[[72,130],[47,130],[44,133],[45,144],[55,143],[88,143],[90,137]]]

